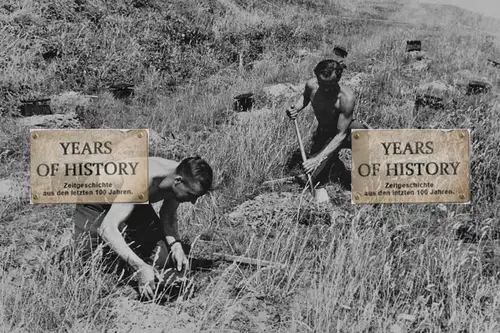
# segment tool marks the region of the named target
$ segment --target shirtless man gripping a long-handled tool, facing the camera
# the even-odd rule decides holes
[[[368,126],[354,120],[355,94],[339,84],[344,67],[336,60],[320,61],[314,68],[315,78],[307,81],[304,93],[287,111],[290,119],[311,103],[318,127],[313,136],[310,157],[303,163],[312,175],[314,185],[325,185],[330,180],[330,169],[335,168],[334,180],[351,189],[351,173],[339,159],[339,151],[351,149],[351,130]]]

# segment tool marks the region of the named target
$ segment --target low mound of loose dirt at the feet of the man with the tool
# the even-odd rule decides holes
[[[332,198],[331,191],[328,193]],[[336,219],[344,213],[340,207],[330,203],[316,204],[309,193],[273,192],[245,201],[228,217],[235,225],[259,227],[290,221],[305,225],[331,224],[337,222]]]

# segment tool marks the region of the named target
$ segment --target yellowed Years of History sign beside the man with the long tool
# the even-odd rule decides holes
[[[468,203],[467,129],[352,131],[352,201]]]

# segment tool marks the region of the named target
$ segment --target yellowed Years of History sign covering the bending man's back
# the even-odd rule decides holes
[[[147,203],[148,134],[31,130],[31,203]]]

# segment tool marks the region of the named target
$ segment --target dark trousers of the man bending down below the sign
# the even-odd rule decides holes
[[[101,225],[110,205],[77,204],[74,217],[74,240],[84,260],[88,260],[103,240],[97,229]],[[158,215],[150,205],[135,205],[125,221],[122,235],[130,248],[145,262],[154,264],[159,269],[172,265],[170,249],[166,244],[164,232]],[[121,228],[122,229],[122,228]],[[103,247],[106,263],[126,266],[111,249]],[[154,263],[153,263],[154,260]]]

